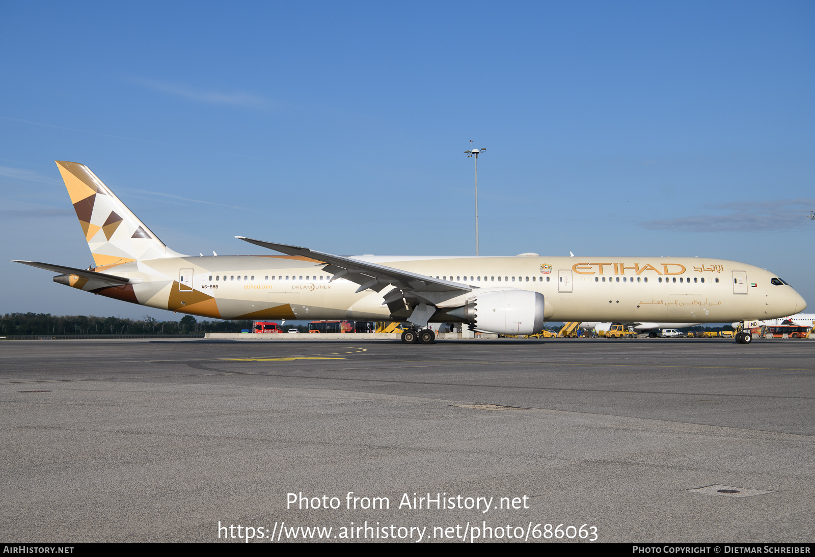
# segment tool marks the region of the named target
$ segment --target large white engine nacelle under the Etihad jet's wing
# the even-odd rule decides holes
[[[456,313],[462,313],[475,331],[533,335],[544,328],[544,311],[544,295],[540,292],[504,290],[476,294]]]

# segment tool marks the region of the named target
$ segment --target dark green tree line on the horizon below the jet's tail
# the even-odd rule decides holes
[[[97,317],[95,315],[5,314],[0,335],[196,335],[205,332],[240,332],[251,321],[197,321],[185,315],[180,321]]]

